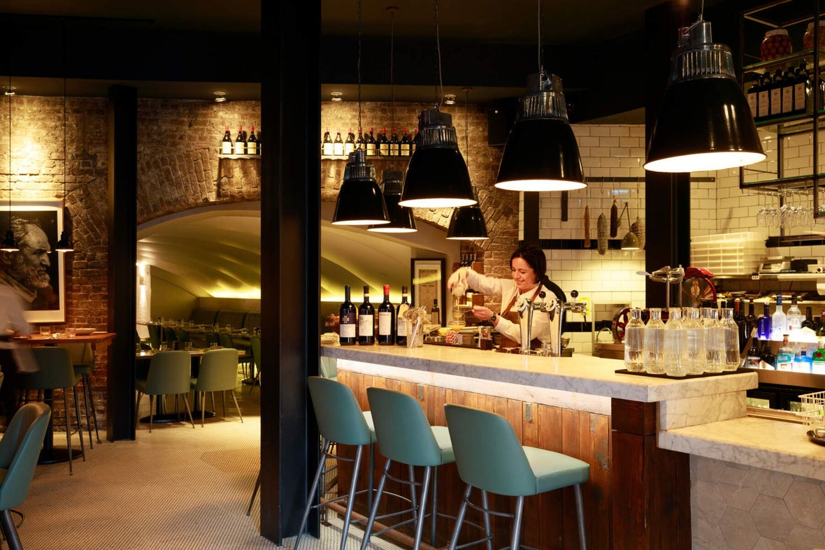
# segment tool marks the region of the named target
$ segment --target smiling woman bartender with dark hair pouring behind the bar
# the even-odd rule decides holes
[[[532,245],[519,247],[510,257],[512,280],[495,279],[477,273],[469,267],[460,267],[447,280],[447,287],[456,286],[475,289],[483,294],[495,294],[502,297],[501,313],[494,313],[484,306],[474,306],[473,314],[482,321],[493,323],[493,327],[502,335],[499,349],[521,345],[521,327],[518,320],[517,308],[522,299],[535,302],[540,299],[539,294],[544,290],[544,300],[553,302],[554,299],[567,301],[558,284],[550,281],[544,271],[547,269],[547,260],[544,251]],[[540,347],[537,336],[549,332],[549,323],[546,315],[534,315],[530,347]]]

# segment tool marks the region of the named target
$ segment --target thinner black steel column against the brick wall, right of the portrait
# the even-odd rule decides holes
[[[135,262],[138,246],[138,91],[109,88],[109,326],[117,337],[106,366],[106,439],[134,440]]]

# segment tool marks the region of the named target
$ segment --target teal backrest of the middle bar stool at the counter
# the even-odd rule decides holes
[[[366,388],[366,397],[381,454],[413,466],[443,463],[436,436],[415,397],[385,388]]]

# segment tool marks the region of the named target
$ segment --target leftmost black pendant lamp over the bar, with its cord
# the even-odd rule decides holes
[[[361,128],[361,0],[358,0],[358,127]],[[344,182],[335,203],[334,225],[379,225],[389,223],[387,205],[375,167],[366,162],[366,152],[358,148],[350,153],[344,169]]]

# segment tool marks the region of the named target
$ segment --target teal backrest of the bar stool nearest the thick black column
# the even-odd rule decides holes
[[[375,443],[375,431],[367,425],[348,386],[321,376],[310,376],[307,384],[318,430],[325,439],[345,445]]]

